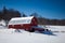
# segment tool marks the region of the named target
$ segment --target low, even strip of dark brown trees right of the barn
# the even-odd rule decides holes
[[[58,25],[65,26],[65,19],[48,19],[48,18],[38,18],[39,25]]]

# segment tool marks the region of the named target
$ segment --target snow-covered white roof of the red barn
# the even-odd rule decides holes
[[[15,17],[15,18],[12,18],[9,22],[9,25],[30,24],[32,18],[34,18],[34,16],[29,16],[29,17]]]

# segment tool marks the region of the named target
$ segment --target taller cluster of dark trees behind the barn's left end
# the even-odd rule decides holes
[[[0,11],[0,19],[10,20],[12,17],[21,17],[21,13],[13,9],[8,10],[3,6],[3,10]]]

